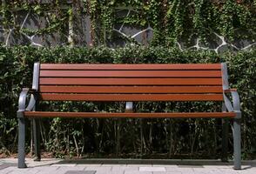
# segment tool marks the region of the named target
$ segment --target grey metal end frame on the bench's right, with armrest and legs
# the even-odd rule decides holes
[[[234,160],[234,169],[240,170],[241,169],[241,110],[240,110],[240,101],[239,101],[239,94],[237,91],[228,91],[230,88],[228,86],[228,75],[227,75],[227,67],[226,63],[221,64],[221,70],[222,70],[222,80],[223,80],[223,97],[224,97],[224,109],[228,110],[229,112],[235,112],[236,116],[233,119],[233,160]],[[228,97],[226,97],[226,93],[231,93],[232,102]],[[224,110],[223,110],[224,111]],[[225,127],[223,127],[226,129]],[[224,133],[224,134],[227,134]],[[223,135],[224,135],[223,134]],[[225,136],[225,135],[224,135]],[[226,136],[223,137],[227,138]],[[223,150],[227,151],[227,142],[226,140],[223,140]],[[226,150],[225,150],[226,149]]]

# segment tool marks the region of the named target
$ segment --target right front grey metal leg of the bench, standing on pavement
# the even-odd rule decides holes
[[[241,120],[234,119],[233,121],[233,157],[234,169],[241,169]]]

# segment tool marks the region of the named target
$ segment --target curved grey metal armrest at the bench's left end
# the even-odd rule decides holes
[[[29,88],[24,88],[20,95],[19,95],[19,99],[18,99],[18,110],[17,110],[17,117],[24,117],[24,111],[25,110],[32,110],[36,104],[36,94],[37,90],[33,90],[33,89],[29,89]],[[26,98],[28,93],[31,94],[30,97],[30,102],[28,104],[28,106],[26,107]]]

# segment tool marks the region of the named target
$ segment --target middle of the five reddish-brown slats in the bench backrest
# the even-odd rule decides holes
[[[220,85],[221,78],[57,78],[41,77],[40,84],[87,85]]]

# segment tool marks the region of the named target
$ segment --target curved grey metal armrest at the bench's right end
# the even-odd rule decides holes
[[[228,97],[226,97],[226,93],[231,93],[232,103],[228,99]],[[224,90],[223,96],[224,96],[224,102],[226,104],[226,109],[228,111],[236,112],[237,113],[236,118],[240,118],[241,117],[241,110],[240,110],[240,100],[239,100],[238,91],[236,89],[226,89],[226,90]]]

